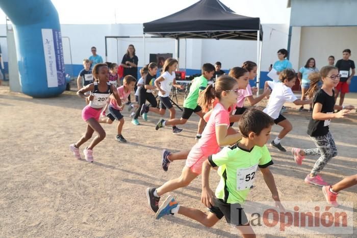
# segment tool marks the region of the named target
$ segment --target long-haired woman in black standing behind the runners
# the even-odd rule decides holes
[[[138,57],[135,55],[135,47],[134,45],[130,44],[127,47],[126,54],[121,60],[121,66],[124,68],[123,77],[126,75],[132,75],[136,80],[138,80],[138,61]],[[136,91],[136,89],[137,83],[135,83],[134,91]],[[130,95],[127,97],[127,99],[129,100],[128,103],[130,103]]]

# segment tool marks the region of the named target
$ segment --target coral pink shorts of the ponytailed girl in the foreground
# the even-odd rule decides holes
[[[201,147],[196,144],[192,147],[190,153],[187,156],[186,167],[190,168],[193,173],[201,174],[203,162],[207,160],[208,156],[218,153],[219,151],[220,148],[218,148],[217,151],[213,153],[204,153],[201,150]]]

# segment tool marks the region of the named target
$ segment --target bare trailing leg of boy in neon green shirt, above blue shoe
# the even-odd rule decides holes
[[[216,224],[219,221],[217,216],[211,212],[206,214],[203,213],[203,211],[201,210],[191,207],[185,207],[182,205],[180,205],[179,214],[184,215],[185,217],[191,218],[193,220],[196,220],[197,222],[207,227],[212,227],[214,226],[214,224]]]

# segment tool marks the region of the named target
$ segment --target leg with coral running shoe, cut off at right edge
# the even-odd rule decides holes
[[[339,204],[337,202],[337,195],[339,195],[339,192],[341,190],[355,186],[356,184],[357,184],[357,174],[345,177],[344,179],[342,179],[338,183],[335,183],[334,185],[323,186],[322,192],[326,198],[326,201],[329,204],[338,207]]]

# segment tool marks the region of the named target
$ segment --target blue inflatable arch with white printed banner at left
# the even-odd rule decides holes
[[[12,21],[21,89],[54,97],[66,88],[60,21],[50,0],[0,0]]]

